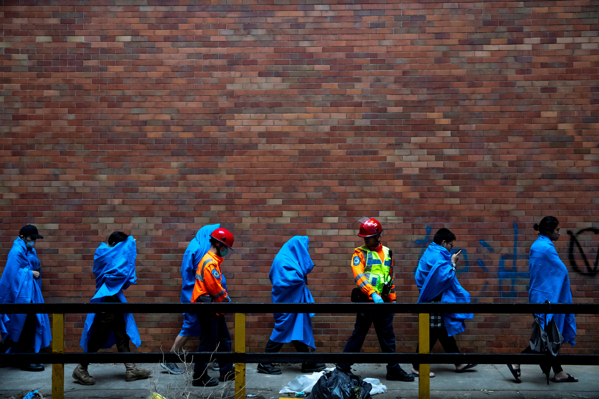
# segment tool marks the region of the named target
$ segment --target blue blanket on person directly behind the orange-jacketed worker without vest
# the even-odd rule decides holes
[[[206,255],[210,249],[210,234],[220,227],[220,223],[216,225],[205,225],[198,230],[193,240],[187,245],[187,249],[183,254],[183,262],[181,263],[181,303],[190,303],[193,287],[195,286],[195,271],[198,262]],[[226,280],[223,275],[223,286],[226,289]],[[183,313],[183,327],[179,335],[183,337],[199,337],[199,321],[196,313]]]

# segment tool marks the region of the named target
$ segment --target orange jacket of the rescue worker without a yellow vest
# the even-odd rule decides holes
[[[195,272],[195,286],[191,295],[192,303],[202,295],[209,295],[213,302],[226,301],[228,295],[222,284],[220,264],[223,258],[208,251],[198,262]]]

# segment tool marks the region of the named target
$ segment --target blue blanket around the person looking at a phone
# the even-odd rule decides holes
[[[451,265],[451,254],[443,246],[432,243],[420,258],[416,269],[416,285],[420,290],[419,303],[429,302],[439,294],[441,303],[470,303],[470,294],[458,282]],[[473,313],[443,313],[447,335],[465,330],[464,320]]]

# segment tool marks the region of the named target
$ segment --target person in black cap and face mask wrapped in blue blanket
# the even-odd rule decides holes
[[[34,225],[19,231],[13,247],[8,252],[6,266],[0,278],[0,303],[44,303],[41,294],[41,263],[35,252],[35,240],[44,238]],[[50,319],[46,313],[26,315],[0,315],[2,350],[4,352],[40,352],[49,346]],[[44,371],[41,364],[26,364],[23,371]]]

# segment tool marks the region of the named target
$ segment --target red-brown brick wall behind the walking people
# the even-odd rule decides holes
[[[88,301],[95,247],[122,230],[138,240],[129,301],[176,303],[187,242],[220,222],[239,248],[223,267],[235,301],[270,301],[274,254],[301,234],[316,301],[349,302],[362,216],[386,228],[400,301],[416,300],[413,271],[441,226],[465,249],[473,300],[527,301],[546,215],[561,220],[574,300],[599,300],[599,235],[578,237],[583,274],[565,234],[599,227],[597,0],[241,3],[0,7],[0,255],[37,225],[46,301]],[[141,350],[168,349],[181,322],[136,318]],[[83,316],[66,320],[80,350]],[[272,318],[248,321],[262,350]],[[597,321],[577,316],[572,352],[597,352]],[[340,351],[353,316],[313,322],[317,350]],[[477,315],[459,345],[519,351],[529,325]],[[396,316],[400,350],[416,327]]]

